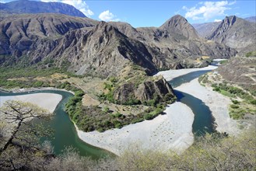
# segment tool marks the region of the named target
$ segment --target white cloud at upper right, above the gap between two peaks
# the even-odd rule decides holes
[[[225,11],[231,9],[230,5],[235,3],[235,1],[200,2],[190,9],[186,6],[183,6],[182,9],[187,11],[185,14],[186,18],[193,20],[205,19],[207,21],[216,16],[226,16]]]

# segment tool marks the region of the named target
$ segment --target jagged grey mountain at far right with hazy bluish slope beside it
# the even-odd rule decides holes
[[[201,37],[236,48],[237,51],[254,51],[256,25],[237,16],[226,16],[221,22],[195,24]]]

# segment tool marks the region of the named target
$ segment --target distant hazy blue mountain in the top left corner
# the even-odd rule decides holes
[[[61,2],[37,2],[28,0],[1,3],[0,12],[2,15],[21,13],[61,13],[68,16],[86,17],[72,5]]]

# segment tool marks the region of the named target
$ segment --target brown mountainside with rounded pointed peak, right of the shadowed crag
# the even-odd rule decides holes
[[[139,40],[153,55],[160,69],[204,66],[198,58],[230,58],[236,51],[223,44],[198,37],[196,30],[182,16],[174,16],[163,26],[132,28],[127,23],[110,23],[132,39]],[[126,30],[124,30],[126,28]]]

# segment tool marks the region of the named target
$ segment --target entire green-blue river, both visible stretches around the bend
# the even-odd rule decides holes
[[[186,75],[181,75],[175,79],[170,80],[170,85],[174,88],[181,86],[185,82],[190,82],[192,79],[198,78],[200,75],[209,72],[198,71],[191,72]],[[80,140],[77,132],[75,131],[75,126],[72,121],[69,119],[68,114],[65,113],[64,106],[68,101],[68,98],[73,96],[70,92],[60,91],[60,90],[40,90],[32,92],[0,92],[0,96],[19,96],[24,94],[31,93],[40,93],[40,92],[50,92],[56,93],[62,96],[61,102],[58,103],[58,106],[54,110],[54,117],[49,121],[50,127],[54,130],[54,138],[51,139],[51,144],[54,146],[54,153],[61,154],[62,150],[67,146],[72,146],[76,148],[80,155],[90,156],[92,159],[100,159],[112,153],[107,152],[101,148],[93,147],[92,145],[86,144],[84,141]],[[192,125],[193,133],[195,135],[205,134],[205,132],[212,133],[213,128],[213,117],[212,113],[209,110],[209,107],[202,103],[202,100],[195,98],[187,93],[174,90],[177,95],[177,101],[186,104],[191,108],[193,113],[195,113],[195,120]]]

